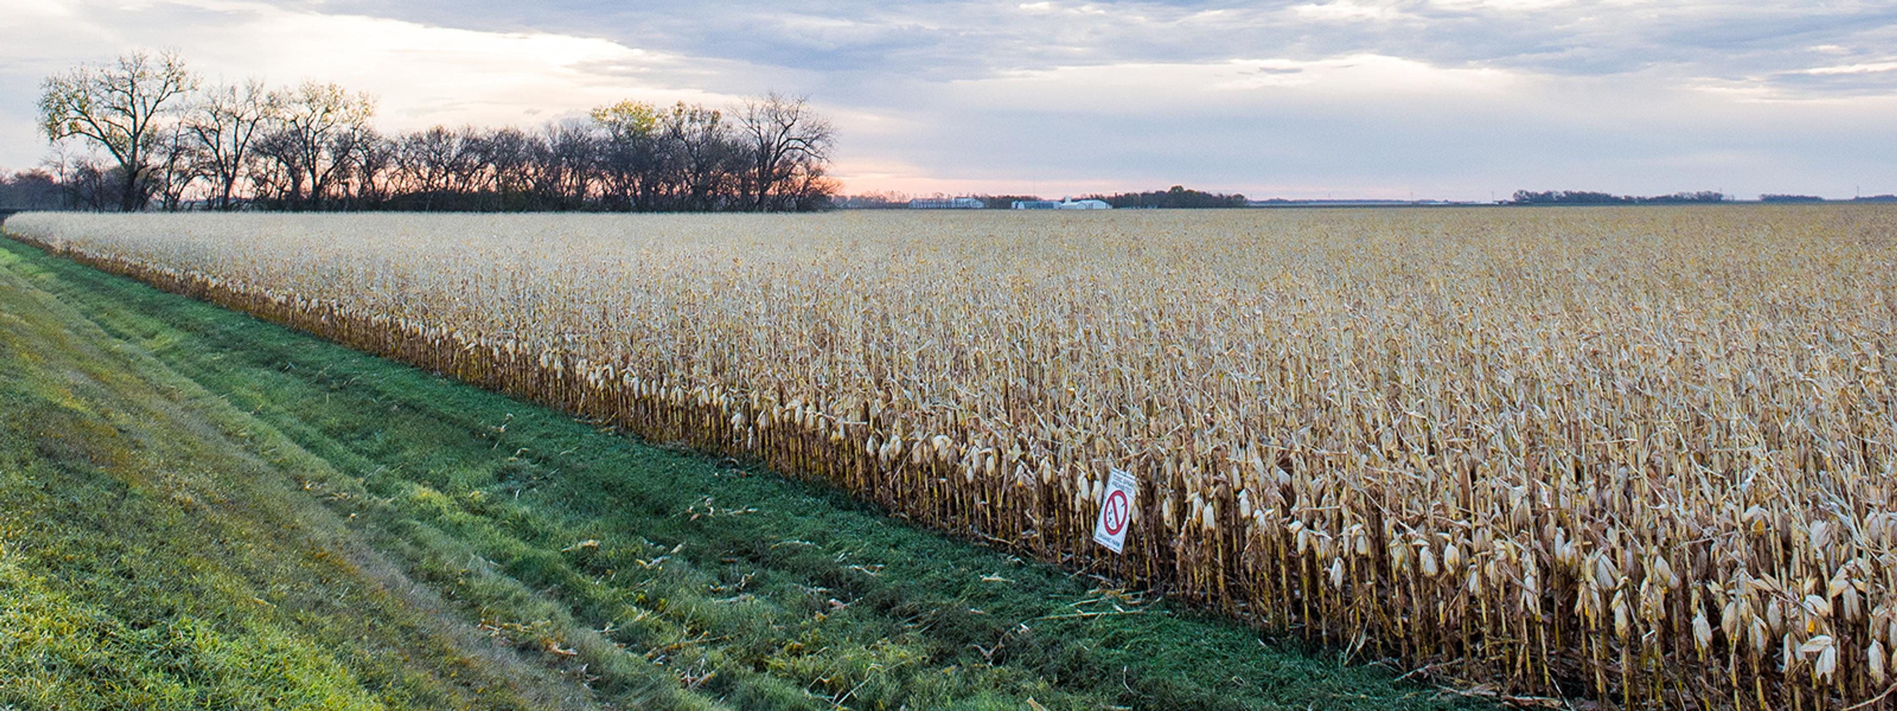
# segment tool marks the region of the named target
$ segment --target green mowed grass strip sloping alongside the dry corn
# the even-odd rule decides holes
[[[1447,709],[0,239],[0,709]]]

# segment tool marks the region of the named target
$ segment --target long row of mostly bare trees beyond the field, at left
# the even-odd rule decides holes
[[[205,83],[131,51],[46,78],[42,171],[0,199],[91,210],[818,210],[835,131],[804,97],[736,106],[622,100],[539,129],[381,133],[336,83]],[[83,152],[74,152],[83,148]],[[19,188],[13,188],[19,186]]]

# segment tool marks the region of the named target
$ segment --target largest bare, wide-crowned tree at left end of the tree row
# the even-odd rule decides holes
[[[176,53],[131,51],[116,64],[80,64],[40,85],[40,131],[51,142],[82,138],[118,161],[120,209],[146,201],[150,154],[169,104],[197,85]]]

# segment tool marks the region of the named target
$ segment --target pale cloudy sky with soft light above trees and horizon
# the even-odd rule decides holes
[[[44,76],[131,47],[340,82],[387,131],[808,95],[846,191],[1897,193],[1897,2],[9,0]]]

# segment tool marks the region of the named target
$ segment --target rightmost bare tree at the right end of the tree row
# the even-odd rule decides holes
[[[738,110],[749,155],[751,209],[783,209],[785,188],[808,184],[829,163],[835,131],[806,97],[776,91],[749,99]]]

